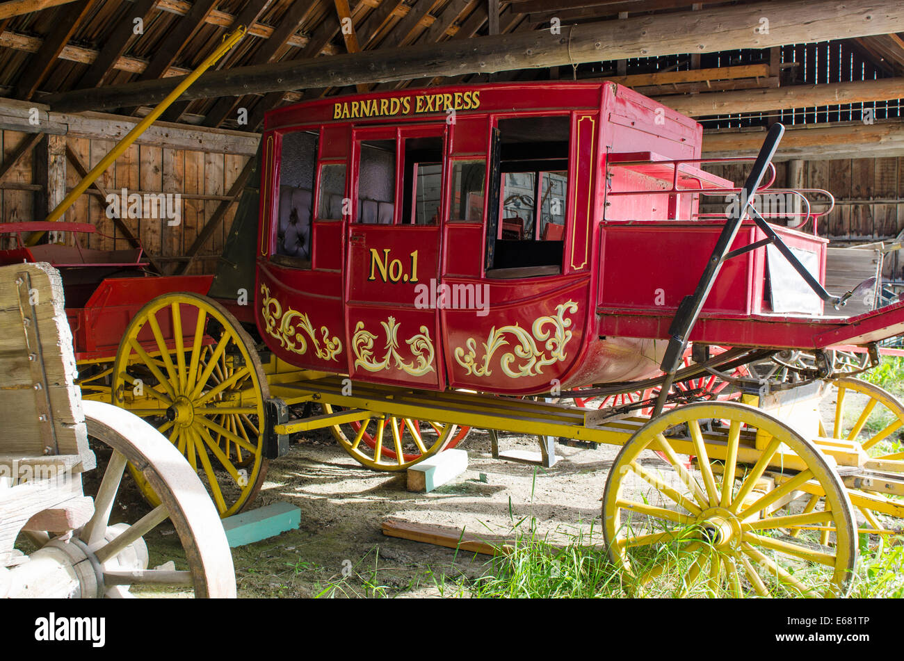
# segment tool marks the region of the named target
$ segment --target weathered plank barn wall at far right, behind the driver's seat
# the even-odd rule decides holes
[[[774,186],[785,186],[788,163],[776,163],[776,167]],[[835,197],[834,210],[818,223],[820,236],[828,238],[833,246],[901,240],[904,156],[805,161],[803,167],[805,188],[823,189]],[[711,165],[706,169],[740,185],[747,177],[749,164]],[[812,226],[809,228],[812,230]],[[900,252],[886,256],[883,275],[904,284],[904,255]]]

